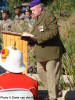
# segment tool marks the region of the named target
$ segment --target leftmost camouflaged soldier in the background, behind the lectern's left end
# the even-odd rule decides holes
[[[10,19],[10,13],[8,9],[4,9],[1,11],[2,18],[0,20],[0,48],[3,47],[2,41],[2,30],[10,31],[12,26],[12,20]],[[4,70],[0,66],[0,74],[3,73]]]

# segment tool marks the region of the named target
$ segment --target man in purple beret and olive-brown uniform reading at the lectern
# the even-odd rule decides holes
[[[29,36],[35,43],[35,55],[38,62],[38,74],[47,82],[48,100],[57,100],[58,85],[61,73],[61,58],[65,48],[60,40],[56,18],[43,9],[40,0],[29,4],[35,15],[34,36]]]

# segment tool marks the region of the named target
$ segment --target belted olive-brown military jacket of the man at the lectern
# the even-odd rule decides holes
[[[57,59],[65,52],[59,37],[56,18],[47,11],[44,10],[35,20],[32,32],[37,37],[35,55],[38,61]]]

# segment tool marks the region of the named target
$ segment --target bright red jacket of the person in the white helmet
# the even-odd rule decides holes
[[[16,73],[5,73],[0,75],[0,90],[10,88],[29,89],[32,91],[35,100],[38,100],[38,83],[27,75]]]

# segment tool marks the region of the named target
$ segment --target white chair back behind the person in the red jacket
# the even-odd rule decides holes
[[[34,100],[33,94],[27,89],[0,90],[0,100]]]

